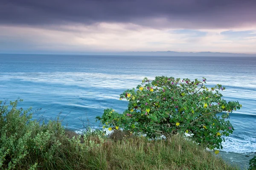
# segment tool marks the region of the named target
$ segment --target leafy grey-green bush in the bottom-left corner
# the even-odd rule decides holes
[[[22,101],[22,100],[19,100]],[[17,109],[18,100],[6,105],[0,101],[0,168],[14,169],[37,167],[37,160],[51,160],[61,143],[57,140],[64,134],[60,122],[50,121],[41,126],[33,121],[31,109]]]

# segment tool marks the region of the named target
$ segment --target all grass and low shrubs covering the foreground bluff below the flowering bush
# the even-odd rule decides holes
[[[39,124],[17,102],[0,102],[0,169],[238,170],[183,136],[149,141],[120,130],[78,135],[61,122]],[[11,109],[9,109],[11,107]]]

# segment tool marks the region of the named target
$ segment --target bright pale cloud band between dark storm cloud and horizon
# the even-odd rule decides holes
[[[232,39],[226,29],[154,29],[133,23],[58,27],[0,26],[0,52],[76,53],[122,51],[255,53],[256,30]],[[235,31],[236,32],[236,31]],[[250,39],[249,39],[249,36]]]

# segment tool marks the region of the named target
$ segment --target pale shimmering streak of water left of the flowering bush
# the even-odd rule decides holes
[[[86,72],[18,72],[4,73],[3,79],[20,79],[21,81],[40,82],[47,84],[74,85],[80,87],[95,87],[109,89],[130,89],[134,83],[138,84],[143,76],[135,75],[110,75],[103,73]]]

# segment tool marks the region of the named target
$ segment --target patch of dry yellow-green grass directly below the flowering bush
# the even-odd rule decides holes
[[[166,141],[148,141],[144,137],[105,139],[100,147],[83,153],[83,160],[86,161],[81,168],[94,170],[238,169],[181,136]]]

